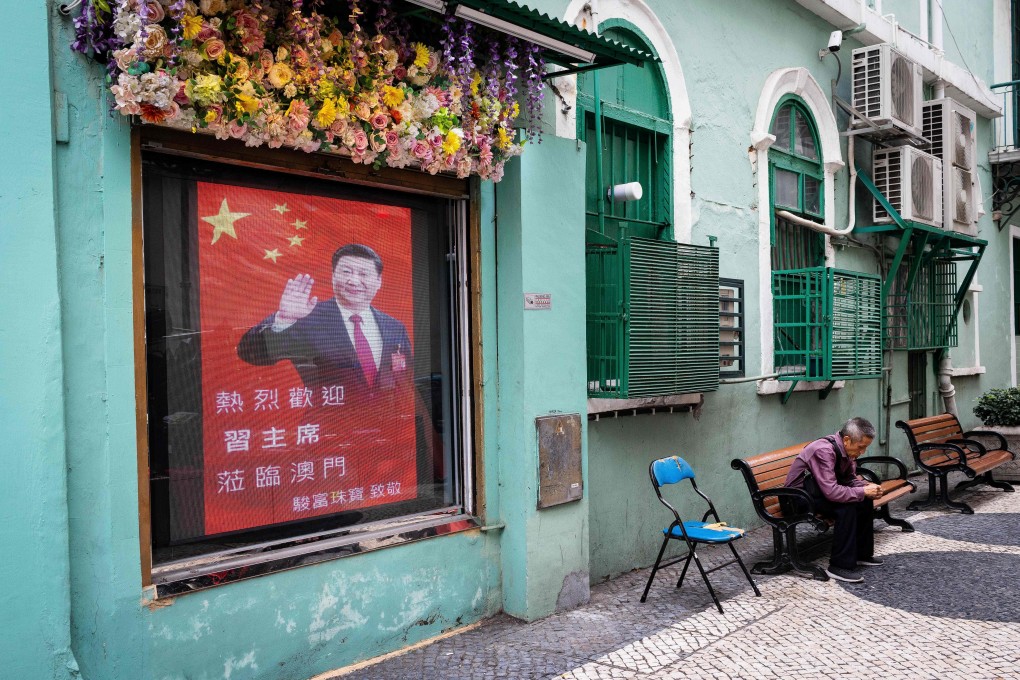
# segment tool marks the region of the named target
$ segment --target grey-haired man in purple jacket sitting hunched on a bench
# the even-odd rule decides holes
[[[864,418],[851,418],[835,434],[815,439],[800,453],[786,475],[786,486],[803,488],[815,512],[835,519],[832,552],[825,570],[847,583],[864,581],[858,567],[882,564],[874,557],[872,500],[881,487],[857,475],[856,461],[875,438],[875,427]],[[796,512],[807,512],[804,503]]]

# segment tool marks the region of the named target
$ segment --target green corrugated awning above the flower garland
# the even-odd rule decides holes
[[[516,0],[405,0],[405,2],[415,5],[417,9],[426,7],[442,13],[453,12],[461,18],[490,30],[537,44],[543,48],[547,61],[565,66],[571,71],[623,63],[641,66],[647,61],[658,60],[652,54],[578,29]],[[562,75],[563,72],[555,74]]]

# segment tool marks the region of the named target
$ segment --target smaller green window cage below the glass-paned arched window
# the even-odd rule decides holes
[[[878,276],[830,267],[774,271],[772,296],[780,380],[881,375]]]

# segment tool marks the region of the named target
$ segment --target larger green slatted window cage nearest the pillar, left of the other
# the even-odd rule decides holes
[[[588,273],[590,396],[718,387],[717,249],[625,238],[614,251],[590,239]]]

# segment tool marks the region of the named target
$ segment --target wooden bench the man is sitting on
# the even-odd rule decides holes
[[[793,570],[819,581],[828,580],[824,569],[801,560],[797,547],[797,527],[800,524],[808,524],[818,531],[827,531],[829,522],[815,513],[785,516],[780,503],[783,499],[802,499],[811,504],[811,498],[804,489],[783,486],[794,459],[809,443],[811,442],[805,441],[751,458],[737,458],[730,463],[730,467],[744,473],[744,481],[748,483],[748,489],[751,491],[755,512],[772,527],[772,561],[756,564],[751,569],[754,574],[781,574]],[[896,468],[897,476],[882,478],[874,469],[880,466]],[[914,484],[907,481],[907,466],[895,458],[869,456],[858,459],[857,472],[868,481],[882,487],[881,498],[873,501],[875,517],[886,524],[899,526],[904,531],[913,531],[914,527],[909,522],[890,517],[888,511],[890,501],[914,492]]]

